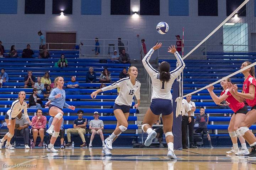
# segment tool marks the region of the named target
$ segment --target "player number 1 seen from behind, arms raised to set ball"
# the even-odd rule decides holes
[[[159,71],[156,71],[149,64],[149,60],[154,51],[159,49],[161,46],[162,43],[157,43],[149,50],[148,54],[146,54],[142,60],[146,71],[149,73],[153,86],[151,105],[144,116],[142,130],[148,133],[148,137],[146,138],[144,145],[149,146],[152,143],[152,139],[156,137],[156,132],[153,131],[151,127],[159,119],[159,115],[162,114],[164,133],[168,145],[167,156],[171,159],[176,159],[173,143],[174,136],[172,135],[173,112],[171,87],[175,79],[184,69],[185,63],[181,59],[180,54],[176,51],[175,46],[169,46],[168,52],[175,55],[178,61],[178,67],[170,72],[170,64],[164,61],[161,62]]]

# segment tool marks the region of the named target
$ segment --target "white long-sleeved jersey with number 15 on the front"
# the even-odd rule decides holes
[[[104,92],[117,87],[120,87],[120,93],[115,100],[116,104],[132,106],[132,99],[134,95],[137,100],[140,100],[140,82],[137,79],[134,86],[130,81],[130,78],[127,77],[111,84],[110,86],[103,87],[101,90]]]

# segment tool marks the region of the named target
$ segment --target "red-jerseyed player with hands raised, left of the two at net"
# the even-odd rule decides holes
[[[239,141],[241,142],[242,148],[239,151],[238,143],[237,143],[237,135],[236,131],[238,130],[238,126],[241,123],[242,120],[244,120],[246,113],[248,112],[247,107],[244,103],[239,103],[238,100],[236,100],[228,89],[228,82],[230,82],[230,79],[224,79],[220,82],[220,85],[223,87],[223,91],[220,94],[220,97],[218,97],[214,92],[213,86],[210,86],[207,88],[208,92],[210,93],[210,96],[212,97],[214,103],[219,104],[220,102],[226,100],[229,103],[229,107],[234,111],[235,114],[231,117],[231,120],[229,122],[228,132],[229,136],[231,138],[231,141],[233,143],[233,147],[230,151],[226,152],[227,154],[236,154],[236,155],[246,155],[249,154],[249,151],[246,147],[245,139],[242,136],[239,136]]]

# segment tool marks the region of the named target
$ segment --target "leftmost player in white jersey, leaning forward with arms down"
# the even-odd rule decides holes
[[[11,138],[14,136],[14,128],[15,128],[15,122],[16,122],[16,116],[23,110],[24,116],[28,120],[29,124],[32,125],[32,122],[30,121],[28,114],[27,114],[27,103],[24,101],[26,98],[26,93],[24,91],[20,91],[18,93],[18,99],[12,102],[11,109],[7,111],[5,114],[5,122],[7,124],[7,127],[9,129],[9,132],[5,134],[5,136],[0,141],[0,149],[2,149],[2,146],[4,145],[4,142],[7,139],[7,142],[5,144],[6,149],[13,150],[14,147],[10,144]]]

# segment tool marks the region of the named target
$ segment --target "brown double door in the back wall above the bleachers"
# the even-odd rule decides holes
[[[76,43],[76,33],[47,32],[46,43],[74,43],[74,44],[49,44],[49,49],[72,50]]]

